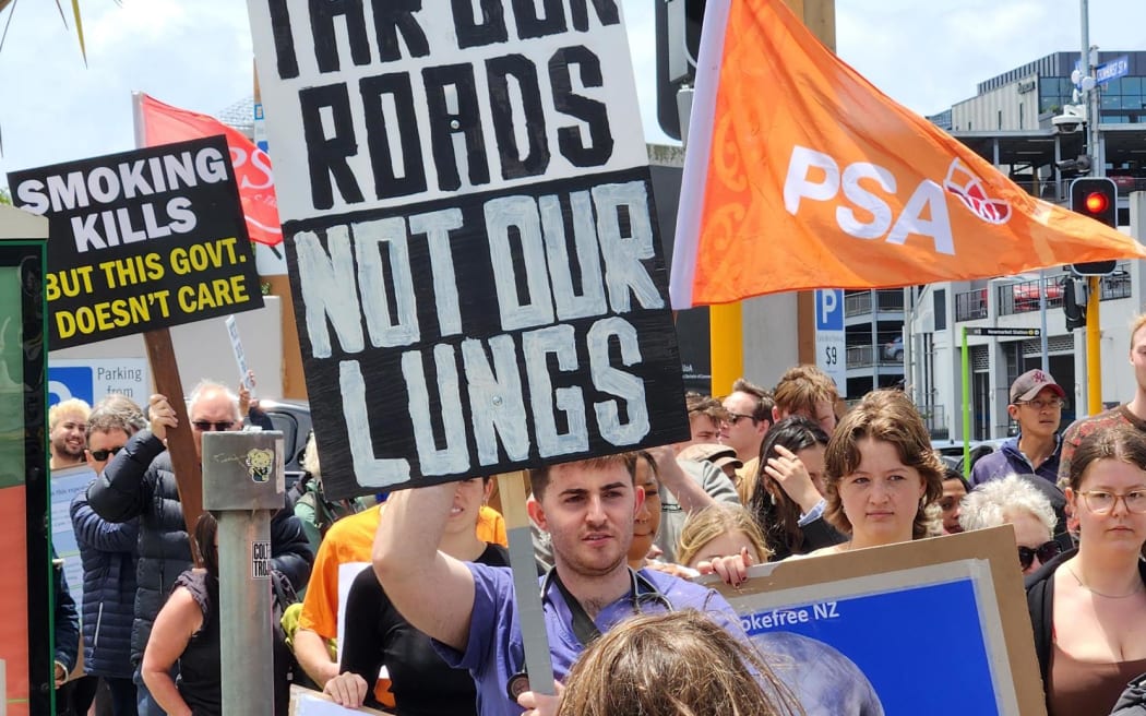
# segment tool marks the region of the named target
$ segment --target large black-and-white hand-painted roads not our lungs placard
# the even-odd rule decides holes
[[[688,436],[619,2],[249,8],[329,494]]]

